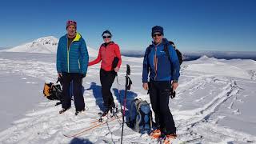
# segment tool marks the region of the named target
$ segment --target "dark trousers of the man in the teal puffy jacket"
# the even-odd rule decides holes
[[[70,82],[73,81],[74,106],[80,111],[85,109],[85,102],[82,95],[82,74],[62,73],[62,108],[67,109],[71,106]]]

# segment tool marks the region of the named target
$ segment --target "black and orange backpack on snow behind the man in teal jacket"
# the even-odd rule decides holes
[[[58,79],[59,81],[59,79]],[[57,81],[57,83],[58,83]],[[43,87],[43,94],[50,100],[61,100],[62,98],[62,86],[60,84],[54,84],[52,82],[45,83]]]

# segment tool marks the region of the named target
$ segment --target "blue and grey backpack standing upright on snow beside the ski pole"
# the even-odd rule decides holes
[[[130,105],[127,125],[138,133],[150,133],[152,129],[152,112],[150,104],[142,99],[134,99]]]

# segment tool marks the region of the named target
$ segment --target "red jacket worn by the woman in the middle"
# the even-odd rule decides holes
[[[102,61],[101,68],[106,71],[111,71],[114,57],[119,58],[118,67],[120,68],[122,59],[121,59],[119,46],[114,42],[110,42],[110,44],[108,44],[106,47],[104,44],[102,44],[102,46],[98,50],[98,58],[96,58],[92,62],[89,62],[88,66],[92,66]]]

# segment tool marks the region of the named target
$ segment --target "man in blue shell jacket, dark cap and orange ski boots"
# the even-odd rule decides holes
[[[143,60],[143,88],[149,90],[150,102],[155,114],[157,129],[151,134],[158,138],[163,134],[166,138],[176,138],[176,127],[169,109],[170,88],[178,87],[179,62],[178,56],[166,38],[163,28],[154,26],[151,36],[152,44],[146,49]],[[164,51],[169,50],[170,60]],[[148,76],[150,73],[150,81]]]

